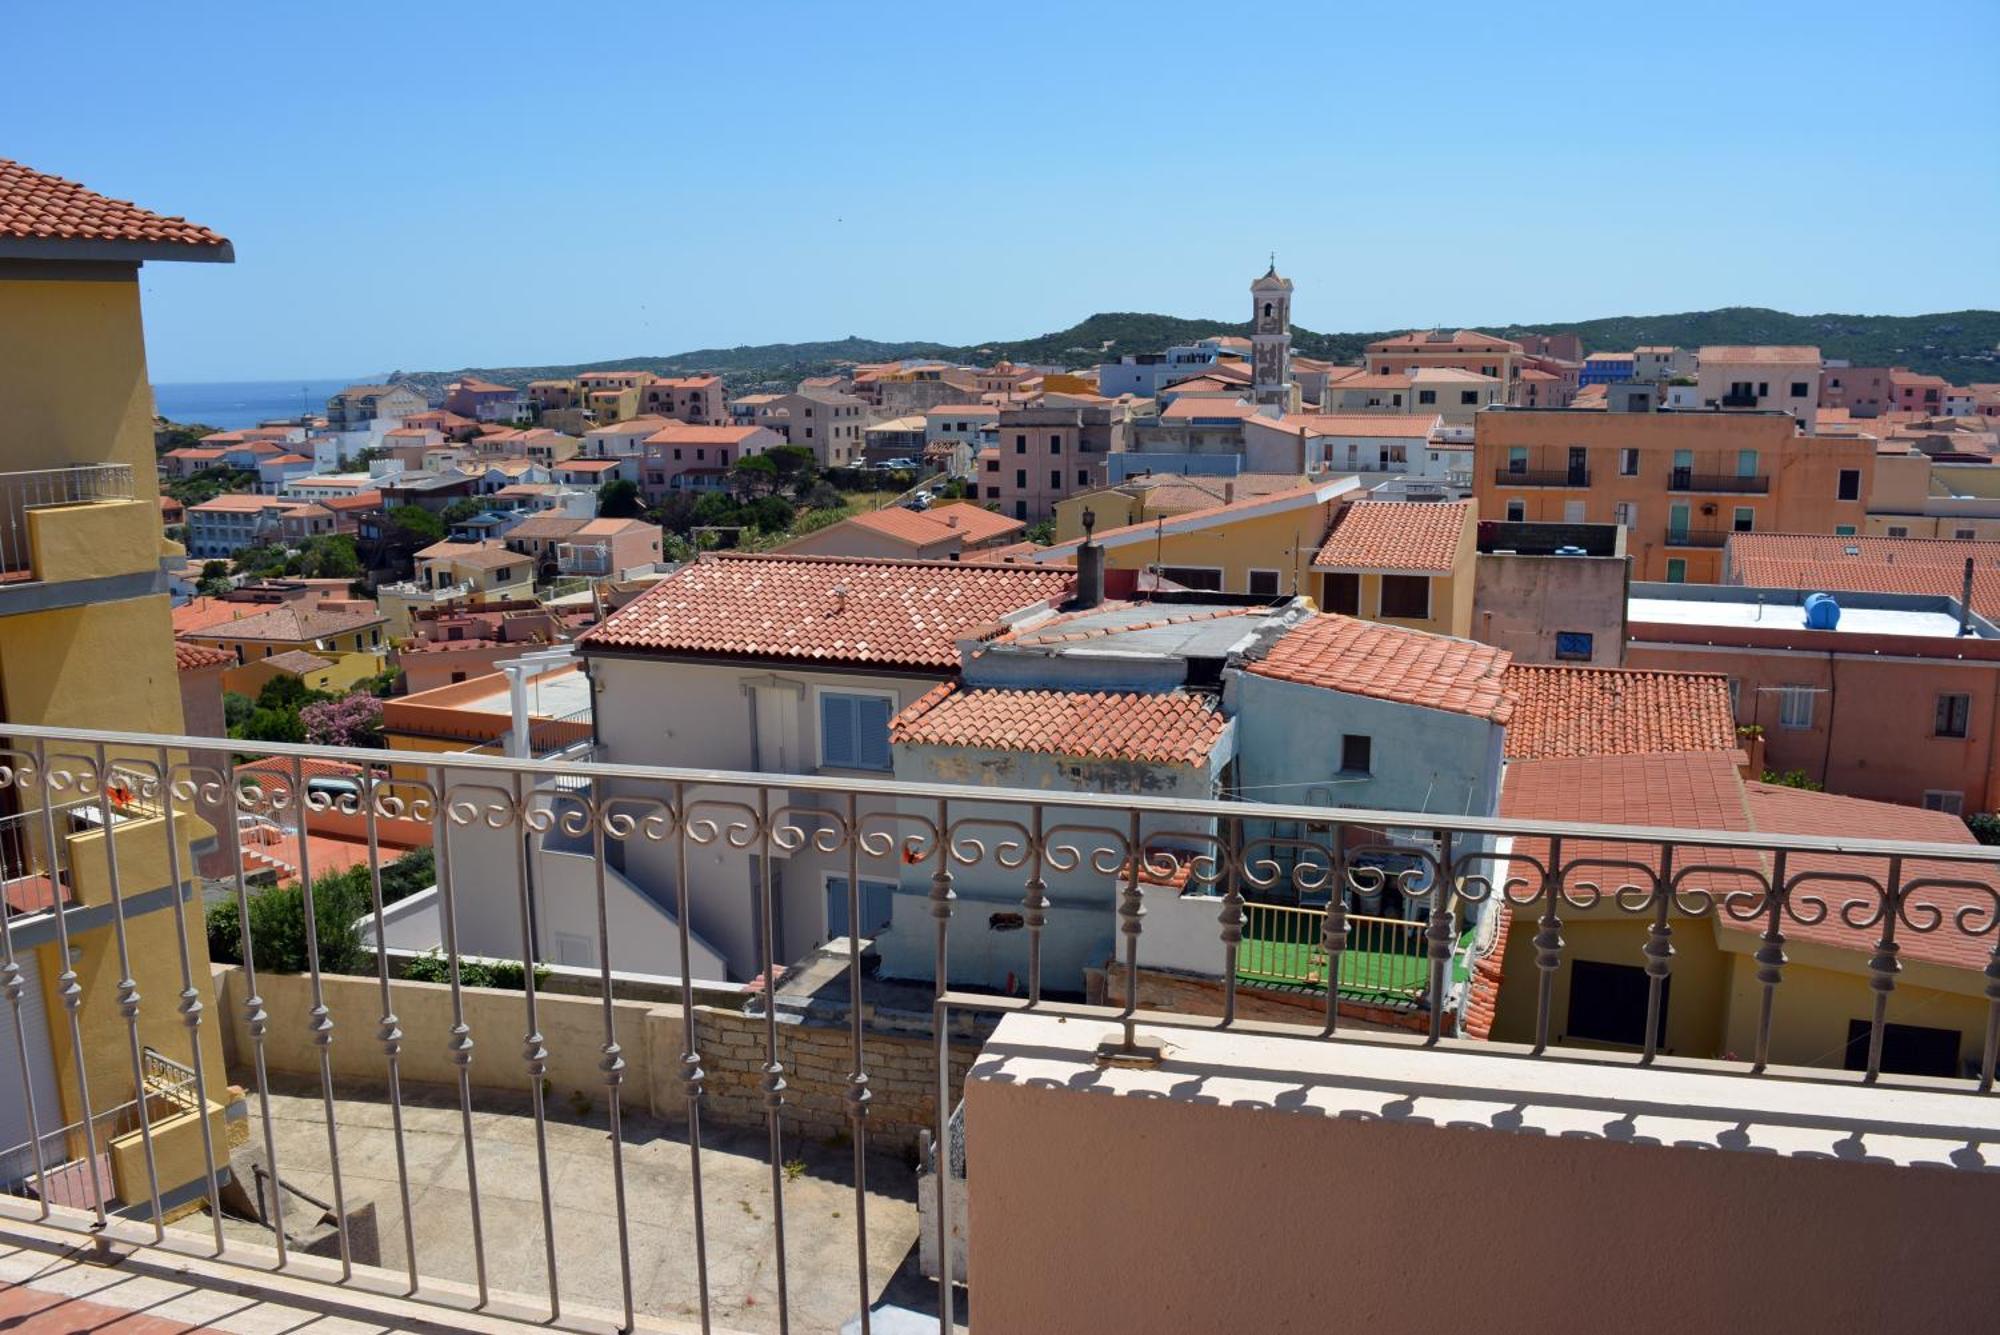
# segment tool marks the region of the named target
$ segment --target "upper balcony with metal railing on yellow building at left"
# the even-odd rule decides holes
[[[0,474],[0,586],[156,570],[158,534],[134,522],[140,510],[126,464]]]

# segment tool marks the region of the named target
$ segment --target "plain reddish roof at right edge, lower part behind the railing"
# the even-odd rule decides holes
[[[1800,787],[1780,787],[1776,783],[1744,783],[1744,797],[1750,803],[1750,823],[1770,833],[1804,835],[1846,835],[1850,839],[1918,839],[1924,843],[1976,843],[1966,823],[1948,811],[1926,811],[1890,801],[1868,801],[1864,797],[1842,797],[1838,793],[1810,793]],[[1808,871],[1836,871],[1882,879],[1884,861],[1880,857],[1842,857],[1838,853],[1792,853],[1786,857],[1786,875]],[[1954,913],[1974,909],[1990,913],[1994,895],[2000,893],[2000,869],[1992,863],[1952,863],[1910,857],[1902,863],[1904,885],[1910,889],[1910,919],[1924,917],[1924,905],[1944,911],[1944,921],[1936,931],[1912,931],[1904,925],[1896,931],[1904,959],[1926,959],[1958,969],[1984,969],[1992,957],[1992,937],[1966,935],[1956,929]],[[1914,885],[1922,879],[1974,881],[1990,889],[1956,885]],[[1830,907],[1826,919],[1814,925],[1796,921],[1784,923],[1788,937],[1820,941],[1838,949],[1874,951],[1880,927],[1856,929],[1840,919],[1840,905],[1848,899],[1866,897],[1874,905],[1872,891],[1864,885],[1842,885],[1840,881],[1806,881],[1794,895],[1816,895]],[[1810,913],[1806,913],[1810,917]]]

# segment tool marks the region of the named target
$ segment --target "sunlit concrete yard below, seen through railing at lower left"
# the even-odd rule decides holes
[[[318,1081],[272,1081],[272,1127],[284,1181],[332,1199],[326,1117]],[[262,1147],[258,1097],[248,1095],[250,1147]],[[348,1209],[374,1203],[382,1269],[406,1265],[402,1201],[396,1187],[396,1137],[386,1085],[336,1081],[342,1185]],[[458,1091],[404,1087],[404,1151],[416,1221],[418,1273],[472,1285],[472,1211],[466,1189]],[[540,1169],[526,1093],[474,1093],[474,1153],[486,1275],[494,1293],[510,1293],[546,1311],[548,1265],[542,1237]],[[692,1321],[698,1315],[694,1217],[686,1129],[626,1111],[624,1175],[632,1247],[632,1297],[640,1317]],[[786,1277],[792,1329],[838,1331],[860,1305],[854,1247],[854,1151],[786,1137],[794,1169],[784,1183]],[[548,1175],[556,1221],[556,1269],[564,1305],[620,1307],[618,1219],[604,1101],[578,1115],[564,1097],[548,1107]],[[702,1199],[708,1241],[710,1305],[718,1327],[778,1329],[776,1227],[770,1203],[768,1137],[742,1127],[702,1127]],[[286,1197],[286,1233],[306,1215]],[[206,1213],[176,1229],[208,1233]],[[250,1231],[244,1231],[250,1229]],[[868,1291],[916,1311],[936,1311],[936,1285],[916,1271],[916,1175],[902,1149],[868,1155]],[[254,1237],[232,1225],[232,1237]],[[268,1233],[264,1233],[268,1241]],[[964,1307],[964,1295],[960,1295]],[[960,1313],[964,1321],[964,1313]],[[932,1319],[934,1329],[934,1319]]]

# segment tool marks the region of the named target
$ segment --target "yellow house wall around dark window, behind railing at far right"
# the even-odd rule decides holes
[[[1754,951],[1754,937],[1740,933],[1738,949]],[[1848,1023],[1874,1017],[1868,957],[1860,951],[1814,947],[1810,941],[1788,941],[1784,949],[1788,959],[1772,999],[1770,1059],[1778,1065],[1840,1069],[1846,1061]],[[1764,989],[1756,981],[1756,959],[1748,953],[1732,953],[1728,959],[1726,1049],[1748,1061],[1756,1053]],[[1904,961],[1896,991],[1888,997],[1888,1021],[1958,1029],[1958,1059],[1964,1069],[1968,1061],[1978,1063],[1986,1041],[1986,997],[1980,993],[1984,981],[1972,969]]]

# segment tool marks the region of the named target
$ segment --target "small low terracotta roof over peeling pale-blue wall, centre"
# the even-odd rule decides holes
[[[946,681],[890,721],[900,745],[1200,765],[1228,721],[1202,695],[960,689]]]

